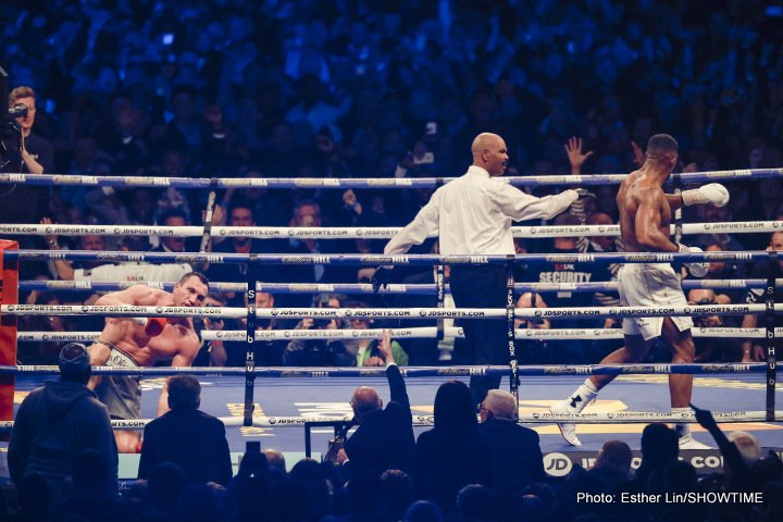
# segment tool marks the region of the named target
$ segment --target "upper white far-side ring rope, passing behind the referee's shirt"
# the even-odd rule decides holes
[[[213,226],[212,237],[253,237],[301,239],[388,239],[402,227],[290,227],[290,226]],[[725,223],[688,223],[683,225],[684,235],[694,234],[751,234],[783,231],[781,221],[748,221]],[[674,233],[674,225],[671,225]],[[14,235],[66,235],[66,236],[178,236],[201,237],[201,226],[142,226],[142,225],[42,225],[0,224],[0,234]],[[573,237],[620,236],[620,225],[575,226],[512,226],[513,237]],[[431,237],[437,237],[432,235]]]

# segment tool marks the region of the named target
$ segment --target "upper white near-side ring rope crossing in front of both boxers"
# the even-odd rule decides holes
[[[775,313],[783,312],[783,303],[774,303]],[[709,304],[686,307],[562,307],[517,308],[517,319],[596,319],[639,318],[667,315],[736,315],[766,313],[765,303]],[[183,318],[208,316],[240,319],[246,308],[219,307],[137,307],[137,306],[79,306],[79,304],[2,304],[0,313],[9,315],[104,315],[121,318]],[[262,319],[506,319],[502,308],[259,308],[256,316]]]

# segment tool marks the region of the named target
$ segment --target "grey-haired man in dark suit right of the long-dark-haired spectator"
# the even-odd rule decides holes
[[[538,434],[517,424],[517,399],[501,389],[490,389],[482,402],[478,431],[492,450],[493,487],[519,492],[544,481],[544,457]]]

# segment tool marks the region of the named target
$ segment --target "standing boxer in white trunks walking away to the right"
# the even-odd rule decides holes
[[[713,203],[723,207],[729,202],[729,191],[722,185],[711,183],[682,195],[663,192],[678,160],[678,142],[667,134],[652,136],[647,144],[645,162],[631,173],[620,186],[617,196],[620,211],[620,234],[626,252],[700,252],[697,247],[678,245],[669,239],[672,211],[688,204]],[[692,275],[706,275],[709,263],[687,265]],[[668,263],[624,264],[618,273],[620,303],[631,307],[687,306],[680,285],[680,275]],[[644,360],[656,337],[672,350],[673,363],[694,361],[695,347],[691,335],[691,318],[624,318],[625,346],[609,353],[601,364],[627,364]],[[598,391],[614,375],[592,375],[567,400],[550,408],[552,413],[579,413],[592,402]],[[693,375],[670,374],[669,393],[672,413],[689,412]],[[574,424],[558,424],[563,438],[573,446],[582,443],[576,437]],[[693,449],[706,447],[696,442],[687,424],[678,424],[680,447]]]

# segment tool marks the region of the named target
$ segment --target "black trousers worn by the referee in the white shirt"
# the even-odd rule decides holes
[[[457,308],[506,308],[506,268],[452,265],[449,277]],[[473,364],[508,364],[507,324],[501,319],[461,320]],[[487,391],[500,386],[500,376],[472,376],[471,394],[475,405]]]

